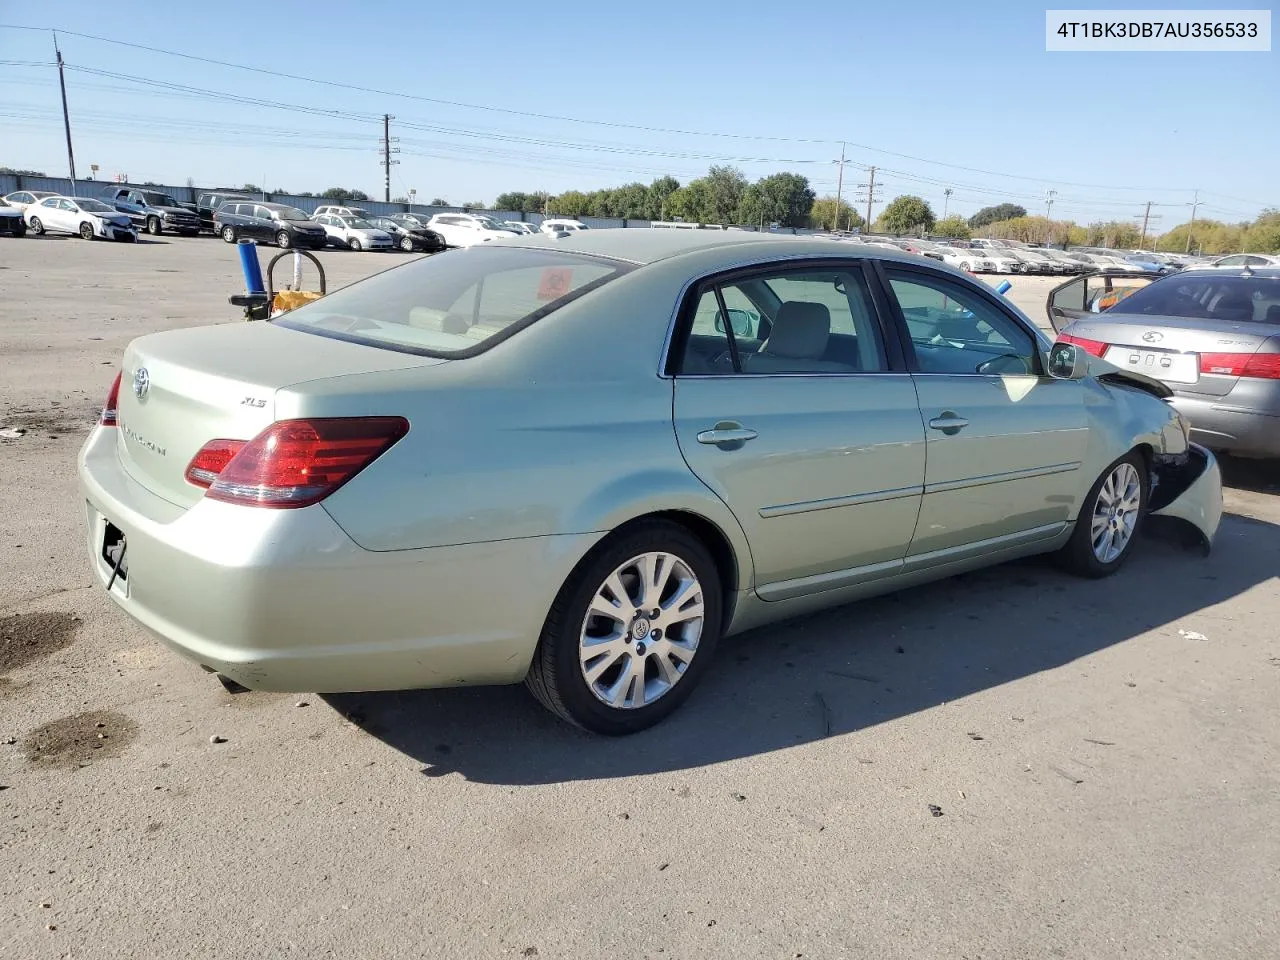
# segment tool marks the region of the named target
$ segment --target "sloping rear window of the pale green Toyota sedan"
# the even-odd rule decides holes
[[[274,323],[403,353],[466,357],[628,269],[559,251],[460,250],[376,274]]]

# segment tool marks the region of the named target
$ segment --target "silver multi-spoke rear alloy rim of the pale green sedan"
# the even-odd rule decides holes
[[[646,707],[685,676],[703,634],[703,586],[672,553],[643,553],[595,591],[579,637],[582,678],[614,709]]]

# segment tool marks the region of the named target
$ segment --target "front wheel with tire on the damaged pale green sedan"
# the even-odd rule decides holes
[[[1149,494],[1147,461],[1138,451],[1129,451],[1102,471],[1080,504],[1071,539],[1059,552],[1062,566],[1071,573],[1093,579],[1120,570],[1138,539]],[[1108,531],[1111,536],[1105,539]],[[1119,550],[1117,536],[1124,538]]]

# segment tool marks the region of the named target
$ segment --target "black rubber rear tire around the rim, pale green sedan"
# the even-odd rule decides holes
[[[646,707],[620,710],[600,703],[582,677],[579,660],[582,620],[586,617],[588,605],[609,573],[632,557],[655,552],[678,557],[698,576],[707,611],[703,632],[698,643],[698,654],[676,686]],[[612,736],[635,733],[658,723],[689,699],[714,658],[723,608],[721,580],[710,553],[684,527],[662,524],[622,535],[576,571],[566,584],[561,599],[563,616],[553,630],[544,632],[541,643],[552,645],[548,653],[554,658],[556,690],[564,708],[575,722],[596,733]]]

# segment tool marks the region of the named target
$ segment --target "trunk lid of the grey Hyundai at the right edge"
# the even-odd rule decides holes
[[[1071,337],[1106,344],[1103,358],[1152,376],[1175,393],[1222,397],[1239,380],[1236,357],[1252,356],[1280,325],[1202,317],[1097,314],[1071,323]]]

